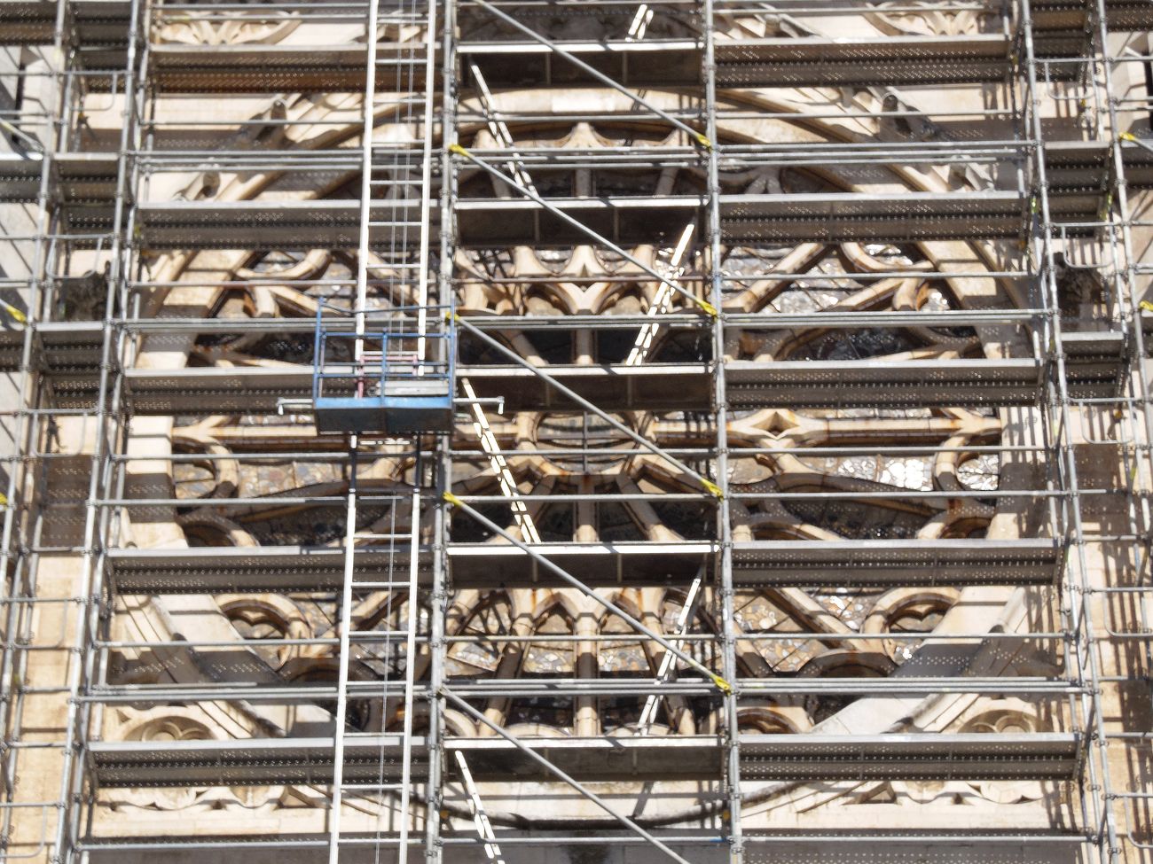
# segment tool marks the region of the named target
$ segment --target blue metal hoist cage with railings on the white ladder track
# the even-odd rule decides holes
[[[353,314],[348,310],[317,309],[312,373],[317,430],[394,435],[450,431],[457,355],[450,312],[447,306],[374,310],[366,313],[364,331],[357,334],[348,323]],[[363,340],[360,357],[357,339]]]

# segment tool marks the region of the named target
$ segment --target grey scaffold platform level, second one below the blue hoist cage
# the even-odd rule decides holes
[[[413,740],[413,776],[428,771],[423,738]],[[534,752],[581,782],[711,780],[724,748],[706,735],[522,738]],[[478,781],[553,778],[510,742],[445,738]],[[345,780],[399,776],[399,736],[349,735]],[[1064,733],[882,735],[741,735],[741,775],[749,780],[1069,780],[1079,737]],[[332,776],[332,738],[91,742],[89,756],[105,788],[324,783]],[[383,767],[382,767],[383,766]],[[747,772],[747,773],[746,773]]]

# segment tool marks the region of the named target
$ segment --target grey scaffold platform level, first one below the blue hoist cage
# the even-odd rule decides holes
[[[378,578],[408,547],[362,547],[354,581]],[[684,586],[708,566],[711,541],[541,543],[533,550],[594,588]],[[537,559],[511,545],[453,543],[446,551],[453,588],[559,588]],[[428,583],[431,551],[420,554]],[[108,550],[108,584],[122,594],[229,591],[332,591],[340,586],[342,551],[336,547],[197,547]],[[764,586],[1048,585],[1060,571],[1053,540],[754,540],[733,544],[733,583]]]

